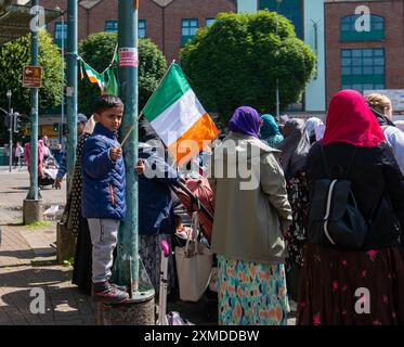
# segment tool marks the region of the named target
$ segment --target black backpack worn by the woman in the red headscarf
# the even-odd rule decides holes
[[[360,249],[364,246],[370,227],[359,209],[351,181],[347,179],[356,150],[355,147],[344,178],[331,179],[321,145],[327,178],[314,181],[309,215],[309,242],[339,249]]]

